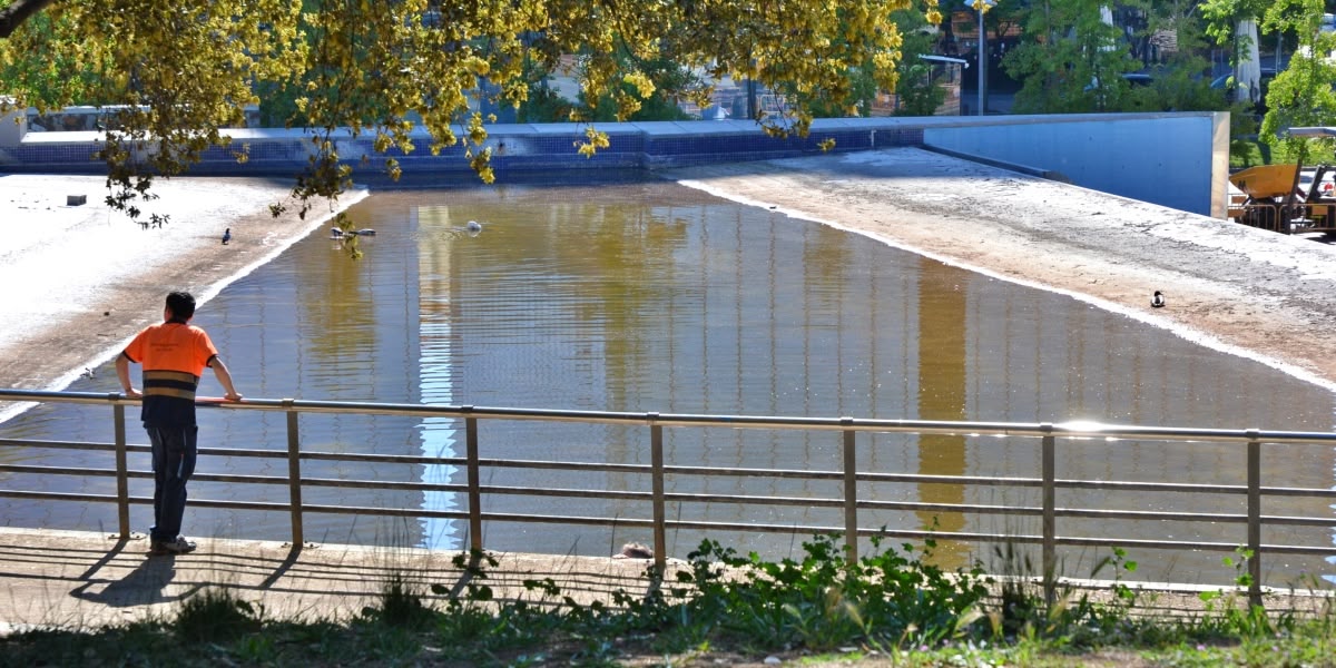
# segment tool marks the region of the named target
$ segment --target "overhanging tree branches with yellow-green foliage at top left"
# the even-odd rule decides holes
[[[816,104],[848,106],[848,71],[894,90],[902,36],[891,16],[910,0],[0,0],[0,104],[95,104],[119,111],[100,158],[122,203],[151,175],[180,174],[227,146],[255,91],[295,91],[295,123],[313,156],[295,194],[337,196],[350,170],[333,136],[373,136],[386,155],[428,130],[429,148],[462,144],[484,180],[486,122],[470,95],[486,81],[518,106],[530,73],[566,53],[582,61],[589,114],[627,119],[664,59],[711,75],[795,91],[791,114],[760,119],[806,135]],[[941,20],[927,0],[931,23]],[[708,94],[708,91],[704,91]],[[693,95],[703,95],[697,90]],[[591,122],[592,118],[572,120]],[[607,144],[593,126],[582,152]],[[244,155],[238,155],[244,159]],[[398,166],[387,158],[386,168]]]

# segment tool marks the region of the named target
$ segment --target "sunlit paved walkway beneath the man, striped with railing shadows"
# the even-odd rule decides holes
[[[394,577],[426,603],[433,585],[462,591],[469,581],[453,561],[458,552],[361,545],[314,545],[198,538],[183,556],[147,554],[148,541],[114,534],[0,528],[0,636],[33,627],[91,628],[171,617],[175,605],[210,588],[227,588],[259,603],[266,619],[346,620],[378,596]],[[525,580],[552,578],[581,603],[611,603],[624,591],[644,595],[649,560],[493,554],[486,584],[500,600],[549,601]],[[560,597],[552,603],[560,603]]]

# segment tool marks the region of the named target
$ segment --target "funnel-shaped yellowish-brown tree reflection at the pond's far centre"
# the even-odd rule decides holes
[[[468,211],[468,218],[450,218],[449,224],[482,222],[488,247],[485,255],[453,254],[453,273],[472,277],[472,285],[456,287],[454,299],[504,294],[500,291],[513,285],[516,273],[528,274],[530,283],[541,281],[546,299],[569,307],[581,331],[596,333],[581,338],[597,343],[589,350],[601,345],[612,394],[608,407],[616,405],[616,395],[633,391],[633,379],[644,375],[645,346],[653,342],[632,334],[659,330],[639,321],[659,318],[667,310],[680,281],[673,275],[675,253],[689,223],[705,215],[699,206],[673,204],[668,199],[676,194],[672,190],[645,188],[640,194],[591,203],[582,188],[533,187],[457,192],[450,202],[452,210]],[[516,273],[488,271],[481,262]],[[566,267],[568,275],[550,275],[548,267]]]

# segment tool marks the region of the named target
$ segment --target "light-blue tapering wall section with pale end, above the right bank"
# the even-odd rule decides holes
[[[1224,112],[1011,116],[1005,124],[925,130],[923,143],[1058,172],[1092,190],[1225,215]]]

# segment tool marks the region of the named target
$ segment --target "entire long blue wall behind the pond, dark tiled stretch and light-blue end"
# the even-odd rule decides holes
[[[822,119],[807,138],[776,139],[755,123],[699,120],[597,124],[612,146],[595,156],[577,154],[585,126],[497,124],[489,127],[498,179],[537,175],[566,179],[570,171],[601,170],[625,174],[637,170],[693,164],[766,160],[816,155],[820,143],[834,140],[835,152],[892,146],[926,146],[986,159],[1037,175],[1061,175],[1093,190],[1224,216],[1228,176],[1228,115],[1109,114],[1054,116],[931,116],[878,119]],[[1221,131],[1222,130],[1222,131]],[[290,178],[307,166],[310,135],[299,130],[230,130],[228,148],[211,148],[194,166],[194,175],[269,175]],[[92,159],[98,132],[19,132],[0,135],[0,172],[102,174]],[[398,159],[417,183],[465,182],[477,176],[462,147],[430,151],[424,132],[411,152],[377,155],[371,138],[341,134],[338,155],[357,170],[358,182],[378,183],[386,156]],[[235,152],[247,160],[238,163]],[[370,158],[362,163],[362,158]],[[1218,212],[1216,211],[1218,203]]]

